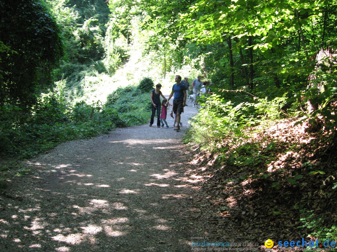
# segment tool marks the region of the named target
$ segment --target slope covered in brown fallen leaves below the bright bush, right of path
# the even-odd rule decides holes
[[[336,240],[336,132],[295,122],[248,128],[240,144],[218,144],[230,146],[224,153],[194,146],[188,174],[216,210],[211,221],[219,237],[230,228],[241,240],[271,239],[274,249],[278,241]]]

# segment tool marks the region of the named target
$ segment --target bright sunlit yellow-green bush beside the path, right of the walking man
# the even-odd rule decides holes
[[[266,123],[283,117],[281,108],[287,98],[257,98],[255,102],[241,102],[237,105],[225,101],[220,95],[209,96],[198,115],[191,120],[191,128],[185,140],[204,144],[212,149],[217,142],[233,136],[246,137],[245,127]]]

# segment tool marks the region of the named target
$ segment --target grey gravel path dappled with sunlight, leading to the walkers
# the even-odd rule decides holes
[[[170,109],[171,111],[171,109]],[[208,233],[185,175],[183,127],[148,125],[59,145],[0,198],[0,251],[191,251]]]

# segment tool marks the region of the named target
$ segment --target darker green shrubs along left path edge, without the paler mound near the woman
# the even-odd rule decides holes
[[[30,113],[3,106],[0,156],[28,158],[64,141],[108,133],[116,127],[111,118],[112,114],[102,110],[100,102],[78,102],[69,108],[52,95],[43,97]]]

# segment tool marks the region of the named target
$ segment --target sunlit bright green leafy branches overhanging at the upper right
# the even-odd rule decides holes
[[[253,37],[255,45],[246,49],[259,51],[260,57],[254,62],[258,74],[273,78],[280,75],[306,76],[312,70],[308,67],[311,64],[308,55],[317,50],[313,32],[323,37],[327,34],[324,29],[330,28],[324,46],[337,34],[336,25],[332,25],[336,18],[323,18],[323,13],[327,13],[324,10],[331,9],[331,6],[336,6],[336,0],[201,0],[190,7],[190,12],[182,14],[178,26],[186,31],[186,37],[193,39],[197,36],[195,41],[198,43],[214,44],[228,36],[239,40]],[[291,47],[298,34],[300,51]],[[252,53],[249,55],[251,59]]]

